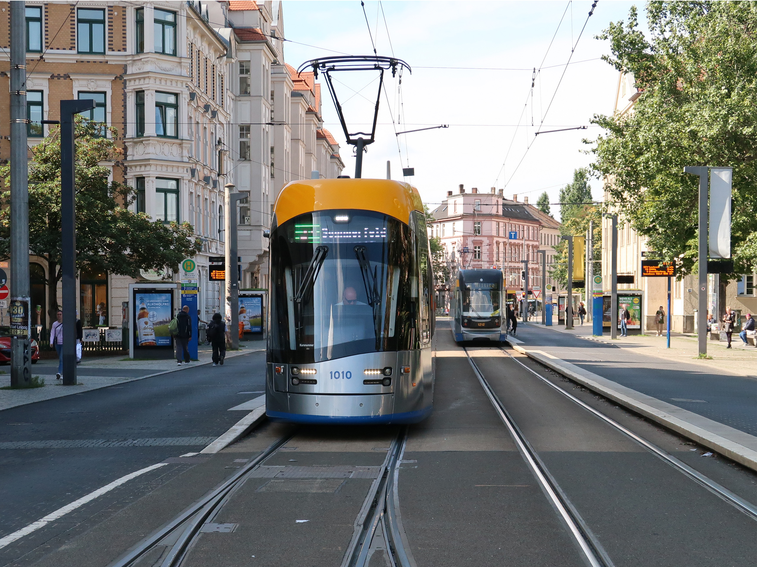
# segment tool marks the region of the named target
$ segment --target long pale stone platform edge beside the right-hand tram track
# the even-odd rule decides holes
[[[757,437],[754,435],[637,392],[546,352],[524,348],[516,343],[509,344],[517,352],[544,364],[581,386],[628,407],[631,411],[656,421],[749,469],[757,470]]]

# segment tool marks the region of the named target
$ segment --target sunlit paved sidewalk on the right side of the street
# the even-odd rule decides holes
[[[520,328],[519,324],[519,328]],[[666,361],[680,361],[691,364],[698,364],[706,367],[710,372],[718,374],[731,374],[734,376],[749,376],[757,378],[757,349],[752,345],[743,347],[741,339],[734,335],[732,344],[733,349],[726,349],[725,342],[708,341],[707,354],[712,356],[712,360],[699,359],[696,356],[699,353],[696,335],[681,335],[671,333],[670,349],[666,348],[666,338],[663,336],[652,335],[629,335],[618,336],[618,339],[610,339],[609,331],[603,336],[592,336],[591,324],[576,325],[572,330],[566,330],[563,325],[553,325],[545,327],[540,321],[529,321],[526,325],[537,327],[545,330],[558,331],[569,335],[578,336],[582,339],[590,339],[597,342],[606,342],[616,345],[620,349],[630,349],[635,354],[647,355],[664,358]]]

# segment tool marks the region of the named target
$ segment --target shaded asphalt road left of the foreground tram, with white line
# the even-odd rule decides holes
[[[185,367],[0,411],[0,537],[124,475],[200,451],[244,417],[244,411],[227,411],[230,407],[261,395],[238,392],[263,391],[264,363],[265,353],[253,352],[227,358],[219,367]],[[139,477],[128,491],[140,486],[152,490],[172,478],[177,467]],[[132,496],[141,494],[136,490]],[[0,565],[33,559],[34,550],[62,531],[76,531],[84,519],[104,509],[116,512],[122,498],[123,491],[114,491],[5,547]]]

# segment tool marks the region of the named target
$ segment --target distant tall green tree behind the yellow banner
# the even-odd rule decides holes
[[[602,209],[593,205],[589,171],[578,168],[573,172],[573,181],[560,189],[560,222],[562,236],[585,236],[589,222],[593,221],[594,259],[602,258]],[[554,256],[556,265],[550,270],[552,277],[563,286],[568,284],[568,243],[560,240]],[[599,264],[596,264],[599,266]],[[596,270],[595,270],[596,273]],[[583,288],[577,288],[583,289]]]

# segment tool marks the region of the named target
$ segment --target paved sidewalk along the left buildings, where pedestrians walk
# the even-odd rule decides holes
[[[226,358],[244,355],[248,352],[256,352],[266,349],[265,341],[245,341],[241,343],[238,351],[227,351]],[[39,376],[45,380],[42,388],[0,390],[0,411],[9,407],[24,404],[33,404],[36,401],[60,398],[64,395],[80,394],[113,386],[117,383],[142,380],[158,374],[180,372],[189,368],[195,368],[204,364],[210,364],[213,349],[210,345],[200,345],[198,349],[198,361],[178,366],[175,358],[164,360],[132,360],[120,357],[84,358],[76,367],[78,384],[76,386],[63,386],[60,380],[55,380],[58,371],[58,360],[41,360],[32,366],[32,376]],[[5,373],[0,374],[0,387],[11,385],[11,367],[3,367]]]

